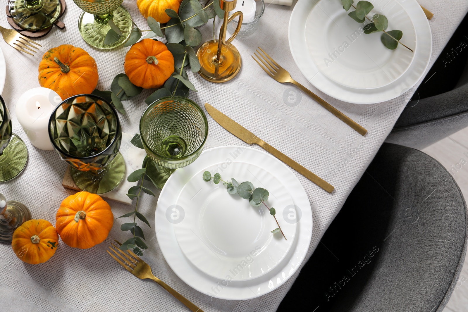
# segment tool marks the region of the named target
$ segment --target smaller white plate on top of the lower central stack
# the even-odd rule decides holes
[[[278,225],[265,205],[254,207],[238,194],[229,194],[222,181],[203,181],[203,172],[214,176],[219,165],[202,168],[179,194],[177,205],[183,207],[185,217],[174,225],[177,242],[207,275],[224,279],[231,274],[233,281],[257,278],[285,258],[294,242],[296,223],[278,220],[287,239],[280,232],[271,233]],[[262,167],[233,161],[221,176],[224,181],[231,178],[267,189],[266,203],[278,216],[294,204],[283,183]]]

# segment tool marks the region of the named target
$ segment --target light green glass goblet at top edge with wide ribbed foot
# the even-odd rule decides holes
[[[81,13],[78,28],[83,39],[91,46],[108,50],[123,45],[132,31],[132,17],[121,6],[124,0],[73,0]],[[119,40],[113,44],[105,44],[107,32],[110,30],[109,21],[112,20],[122,32]]]

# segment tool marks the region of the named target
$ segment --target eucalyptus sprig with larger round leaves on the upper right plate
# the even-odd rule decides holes
[[[374,8],[371,2],[359,1],[356,6],[353,5],[354,0],[341,0],[341,3],[343,4],[345,11],[348,11],[351,7],[354,7],[355,10],[348,13],[348,15],[356,22],[364,23],[366,22],[366,19],[370,22],[364,26],[365,34],[368,35],[383,31],[382,36],[380,36],[380,41],[386,48],[395,50],[398,44],[401,44],[409,51],[414,52],[408,46],[400,42],[400,39],[403,36],[403,32],[401,30],[395,29],[386,31],[388,28],[388,19],[385,15],[374,14],[371,18],[367,17],[367,15],[371,13],[372,9]]]

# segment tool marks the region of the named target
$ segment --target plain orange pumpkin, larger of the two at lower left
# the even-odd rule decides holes
[[[88,192],[66,197],[55,219],[63,242],[81,249],[102,243],[114,224],[109,204],[101,196]]]

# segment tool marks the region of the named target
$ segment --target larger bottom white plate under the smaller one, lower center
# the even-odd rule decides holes
[[[199,174],[200,170],[212,164],[218,164],[218,172],[222,176],[234,160],[261,167],[285,185],[294,205],[287,207],[282,215],[277,214],[276,217],[281,223],[296,223],[296,239],[284,260],[264,275],[241,282],[233,281],[232,274],[219,279],[200,271],[185,257],[174,232],[174,225],[185,218],[185,208],[177,205],[177,198],[183,186],[194,175]],[[201,180],[201,183],[205,181]],[[312,211],[307,194],[296,175],[281,161],[251,147],[221,146],[204,151],[192,164],[177,169],[169,177],[158,199],[155,231],[164,259],[185,283],[208,296],[228,300],[247,300],[278,288],[300,267],[312,237]]]

